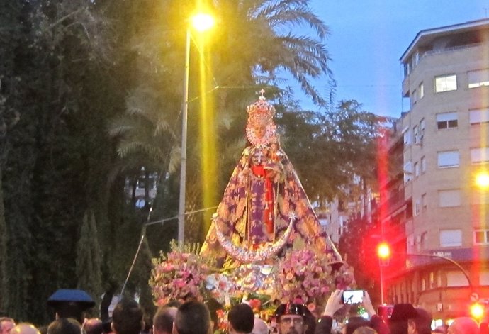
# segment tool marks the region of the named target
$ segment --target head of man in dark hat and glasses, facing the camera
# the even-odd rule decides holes
[[[279,323],[279,334],[304,334],[308,330],[306,318],[310,311],[302,304],[281,304],[274,315]]]

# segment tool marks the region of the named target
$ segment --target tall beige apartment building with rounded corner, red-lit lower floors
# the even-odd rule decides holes
[[[404,199],[381,220],[404,225],[408,255],[384,270],[386,301],[446,320],[489,301],[489,188],[475,182],[489,172],[489,19],[422,30],[400,62],[403,173],[385,187]]]

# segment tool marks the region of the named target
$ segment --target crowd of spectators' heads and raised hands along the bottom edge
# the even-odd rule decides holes
[[[76,302],[75,302],[76,304]],[[395,304],[388,318],[376,313],[369,294],[361,303],[368,318],[351,314],[341,328],[337,315],[344,311],[342,291],[334,291],[318,318],[303,304],[281,304],[269,320],[254,314],[248,304],[232,306],[227,313],[228,334],[489,334],[488,324],[472,318],[456,318],[449,326],[432,330],[432,316],[412,304]],[[140,304],[124,298],[116,304],[110,321],[84,318],[83,308],[63,308],[56,319],[43,328],[0,318],[0,334],[212,334],[218,331],[216,308],[201,301],[172,301],[157,309],[152,325],[145,323]],[[221,328],[222,329],[222,328]]]

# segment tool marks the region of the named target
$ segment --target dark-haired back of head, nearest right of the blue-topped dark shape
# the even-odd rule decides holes
[[[117,334],[139,334],[145,328],[141,306],[134,299],[123,298],[112,312],[112,330]]]

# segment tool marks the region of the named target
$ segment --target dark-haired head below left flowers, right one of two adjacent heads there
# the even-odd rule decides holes
[[[176,311],[173,334],[209,334],[210,314],[200,301],[186,301]]]

